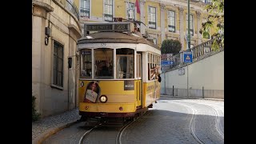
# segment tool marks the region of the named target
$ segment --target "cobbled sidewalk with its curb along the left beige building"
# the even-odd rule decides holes
[[[70,126],[80,119],[78,109],[66,111],[62,114],[42,118],[32,122],[32,144],[39,144],[51,134]]]

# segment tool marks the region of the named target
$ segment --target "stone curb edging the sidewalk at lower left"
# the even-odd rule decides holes
[[[66,123],[64,126],[58,126],[58,127],[55,127],[55,128],[50,128],[49,130],[46,130],[46,132],[44,132],[43,134],[40,134],[38,135],[37,138],[34,138],[32,140],[32,144],[41,144],[43,141],[46,140],[46,138],[49,138],[51,135],[57,133],[59,130],[62,130],[68,126],[72,126],[76,123],[79,122],[79,119],[76,120],[76,121],[73,121],[73,122],[68,122]]]

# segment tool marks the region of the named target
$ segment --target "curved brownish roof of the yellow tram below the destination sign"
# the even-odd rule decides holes
[[[85,37],[82,37],[78,40],[79,43],[143,43],[149,46],[152,46],[159,50],[159,47],[153,42],[148,41],[146,38],[142,38],[138,34],[127,34],[121,32],[97,32],[93,34],[88,34]]]

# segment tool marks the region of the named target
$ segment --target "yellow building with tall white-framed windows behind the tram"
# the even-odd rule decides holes
[[[141,21],[142,34],[154,39],[160,47],[165,39],[178,39],[186,50],[187,1],[186,0],[77,0],[80,25],[85,22],[113,22],[113,18],[133,18]],[[196,46],[206,42],[199,30],[207,18],[204,10],[207,0],[190,0],[190,43]],[[138,13],[138,8],[140,13]]]

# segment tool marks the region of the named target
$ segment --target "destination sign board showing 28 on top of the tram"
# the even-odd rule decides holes
[[[130,31],[130,22],[85,23],[85,31]]]

